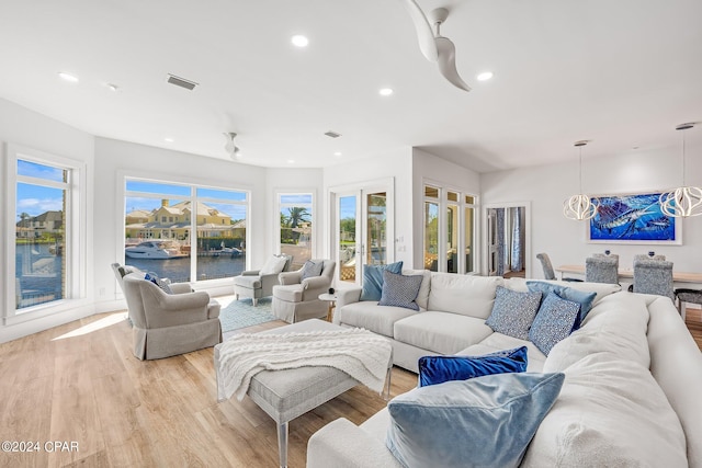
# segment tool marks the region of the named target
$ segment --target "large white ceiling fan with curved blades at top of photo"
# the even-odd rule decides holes
[[[439,71],[451,84],[464,91],[471,91],[471,87],[461,79],[456,69],[456,47],[451,39],[441,35],[441,23],[449,18],[449,10],[438,8],[424,15],[415,0],[401,0],[401,2],[415,23],[419,48],[427,60],[435,61],[439,65]],[[432,24],[435,32],[431,27]]]

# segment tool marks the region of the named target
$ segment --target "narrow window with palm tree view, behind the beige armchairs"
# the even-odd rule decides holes
[[[314,207],[312,193],[279,193],[280,253],[291,255],[291,270],[312,259]]]

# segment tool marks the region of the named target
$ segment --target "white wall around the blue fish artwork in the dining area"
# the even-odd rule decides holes
[[[693,135],[692,132],[697,132]],[[702,185],[702,128],[688,130],[687,182]],[[693,139],[694,137],[694,139]],[[672,139],[672,138],[671,138]],[[697,141],[694,141],[697,140]],[[690,145],[690,142],[693,145]],[[682,220],[682,246],[588,243],[587,222],[563,216],[563,202],[578,192],[577,159],[483,174],[483,203],[531,202],[531,252],[534,277],[543,277],[535,258],[547,252],[554,266],[585,264],[605,249],[620,255],[621,267],[632,267],[634,254],[654,250],[675,262],[673,269],[699,272],[702,265],[702,216]],[[681,184],[681,146],[656,150],[629,150],[607,158],[584,158],[582,189],[590,195],[665,191]]]

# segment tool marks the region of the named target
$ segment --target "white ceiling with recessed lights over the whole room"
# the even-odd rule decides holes
[[[223,133],[236,132],[241,162],[264,167],[415,146],[488,172],[575,159],[580,139],[593,140],[584,158],[664,148],[702,119],[700,0],[419,3],[450,10],[441,32],[469,93],[423,58],[401,0],[3,0],[0,98],[213,158],[229,158]],[[485,70],[495,78],[478,82]]]

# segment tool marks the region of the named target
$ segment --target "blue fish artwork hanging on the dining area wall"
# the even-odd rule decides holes
[[[660,212],[659,197],[660,193],[598,197],[590,240],[676,242],[676,218]]]

